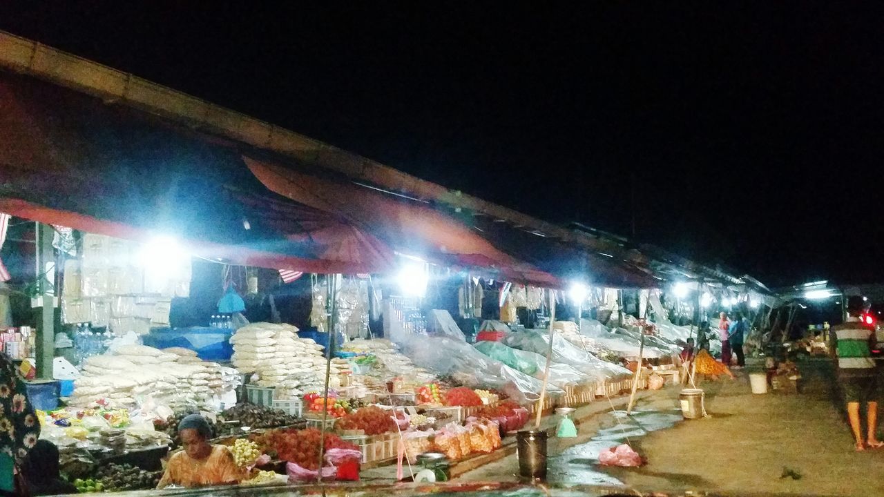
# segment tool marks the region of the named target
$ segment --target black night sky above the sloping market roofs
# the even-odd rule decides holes
[[[884,280],[880,4],[137,4],[0,29],[552,221],[629,235],[632,186],[637,239],[773,285]]]

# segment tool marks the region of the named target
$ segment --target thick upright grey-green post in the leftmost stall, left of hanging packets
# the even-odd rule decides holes
[[[52,226],[36,223],[37,233],[37,256],[36,273],[37,287],[42,288],[42,313],[40,325],[36,330],[37,346],[37,377],[52,379],[52,362],[55,359],[55,295],[46,288],[46,263],[55,262],[55,254],[52,250]],[[55,271],[53,271],[53,275]]]

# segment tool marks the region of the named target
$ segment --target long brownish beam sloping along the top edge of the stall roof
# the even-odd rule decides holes
[[[257,149],[293,157],[304,164],[340,172],[351,180],[368,182],[400,195],[481,211],[514,225],[530,227],[562,241],[579,243],[605,253],[622,249],[621,244],[449,190],[322,141],[3,31],[0,31],[0,66],[99,96],[109,103],[124,103]]]

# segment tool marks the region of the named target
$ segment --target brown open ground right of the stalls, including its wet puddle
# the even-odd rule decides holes
[[[742,373],[735,381],[706,382],[712,417],[677,419],[674,386],[638,402],[632,418],[606,414],[580,426],[577,440],[552,440],[551,483],[621,484],[644,491],[884,495],[884,449],[853,451],[841,401],[826,360],[799,363],[804,392],[753,395]],[[642,468],[598,465],[598,450],[621,442],[623,431]],[[790,470],[799,478],[781,478]],[[461,479],[516,481],[515,456]]]

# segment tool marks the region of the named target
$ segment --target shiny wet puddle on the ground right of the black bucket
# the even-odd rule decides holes
[[[549,457],[547,481],[557,484],[622,485],[620,480],[604,472],[598,464],[598,453],[627,440],[635,442],[647,433],[669,428],[682,421],[682,413],[678,409],[633,411],[631,416],[627,416],[626,411],[618,410],[606,416],[613,420],[613,426],[599,430],[587,442]]]

